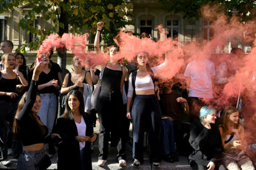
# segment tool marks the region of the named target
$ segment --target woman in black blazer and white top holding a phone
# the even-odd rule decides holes
[[[65,111],[56,122],[55,133],[61,136],[57,144],[57,169],[92,169],[90,146],[97,135],[93,133],[93,123],[84,108],[81,92],[67,93]]]

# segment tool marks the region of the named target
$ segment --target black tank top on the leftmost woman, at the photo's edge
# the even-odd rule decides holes
[[[1,75],[1,78],[0,78],[0,91],[1,92],[14,92],[15,93],[16,85],[18,85],[18,84],[19,84],[19,81],[17,80],[17,76],[14,79],[6,79],[6,78],[3,78],[2,75]],[[10,96],[2,95],[2,96],[0,96],[0,101],[17,102],[18,98],[19,97],[16,96],[15,98],[11,99]]]

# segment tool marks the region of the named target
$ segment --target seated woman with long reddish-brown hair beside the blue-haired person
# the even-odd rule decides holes
[[[223,110],[219,126],[224,150],[222,162],[227,169],[255,170],[250,158],[243,151],[245,129],[239,123],[238,116],[238,110],[232,106]]]

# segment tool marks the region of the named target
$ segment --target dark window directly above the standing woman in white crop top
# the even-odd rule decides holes
[[[140,34],[146,33],[152,35],[153,30],[153,18],[150,16],[145,16],[140,18]]]

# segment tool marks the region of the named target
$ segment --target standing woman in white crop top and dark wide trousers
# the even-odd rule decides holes
[[[132,74],[129,77],[129,89],[127,94],[127,118],[133,121],[133,165],[140,167],[143,162],[143,139],[144,131],[149,132],[149,143],[153,167],[160,167],[161,162],[161,111],[158,99],[155,96],[153,80],[147,70],[148,58],[144,52],[138,53],[136,62],[138,71],[135,79],[135,89],[132,82]],[[136,73],[136,72],[135,72]],[[132,111],[131,101],[135,91]]]

